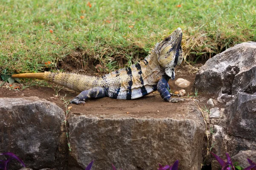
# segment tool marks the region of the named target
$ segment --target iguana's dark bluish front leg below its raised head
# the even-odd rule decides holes
[[[168,84],[168,78],[164,78],[162,77],[158,83],[157,83],[157,91],[160,93],[162,99],[164,99],[166,102],[173,102],[173,103],[177,103],[179,101],[183,101],[183,99],[180,98],[172,98],[169,92],[170,90],[170,86]]]

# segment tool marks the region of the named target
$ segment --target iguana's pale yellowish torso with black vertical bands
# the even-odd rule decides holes
[[[157,82],[164,74],[157,68],[152,72],[144,62],[122,68],[103,76],[101,87],[113,99],[137,99],[157,90]],[[148,71],[151,70],[151,71]]]

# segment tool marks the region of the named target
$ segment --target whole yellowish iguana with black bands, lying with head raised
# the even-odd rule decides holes
[[[148,57],[102,77],[74,73],[25,73],[14,74],[13,78],[44,79],[81,92],[70,103],[84,104],[89,98],[110,97],[113,99],[137,99],[158,90],[167,102],[177,102],[171,98],[168,80],[175,78],[174,68],[183,60],[181,48],[182,31],[177,28],[152,49]]]

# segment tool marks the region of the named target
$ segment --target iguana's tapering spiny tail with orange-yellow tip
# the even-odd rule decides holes
[[[44,73],[23,73],[14,74],[13,78],[29,78],[29,79],[44,79],[49,82],[54,82],[58,85],[65,86],[74,91],[84,91],[90,88],[99,86],[101,78],[94,76],[87,76],[83,74],[73,73],[51,73],[45,71]]]

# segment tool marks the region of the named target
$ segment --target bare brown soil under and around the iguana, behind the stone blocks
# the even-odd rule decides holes
[[[185,88],[186,92],[189,95],[193,95],[194,91],[192,91],[192,84],[195,79],[195,73],[192,73],[191,69],[188,65],[183,64],[182,66],[177,66],[175,70],[175,74],[177,78],[187,79],[191,82],[188,88]],[[175,81],[170,80],[169,84],[172,91],[178,91],[181,88],[177,87],[174,83]],[[15,86],[15,85],[13,85]],[[61,96],[66,96],[67,99],[73,99],[79,93],[75,91],[68,90],[66,88],[59,91],[60,96],[55,96],[55,90],[49,87],[38,87],[32,86],[29,88],[25,88],[23,90],[15,90],[11,88],[7,88],[6,84],[4,84],[0,88],[0,97],[11,97],[11,98],[19,98],[23,96],[37,96],[41,99],[46,99],[50,102],[57,104],[59,107],[65,110],[64,101],[61,100]],[[214,96],[206,96],[204,94],[199,93],[199,97],[195,99],[200,99],[202,97],[215,98]],[[206,105],[207,100],[199,102],[200,107],[204,107]],[[154,92],[149,94],[148,96],[144,96],[140,99],[136,100],[118,100],[118,99],[110,99],[108,97],[102,99],[90,99],[87,100],[85,105],[69,105],[72,106],[72,113],[75,114],[92,114],[95,116],[114,116],[114,115],[122,115],[122,116],[150,116],[150,117],[169,117],[172,114],[180,113],[177,110],[177,107],[186,105],[188,101],[178,102],[178,103],[169,103],[165,102],[158,92]]]

